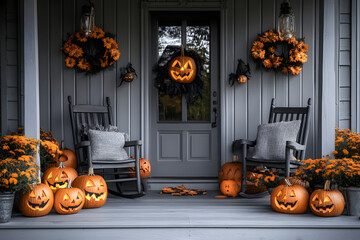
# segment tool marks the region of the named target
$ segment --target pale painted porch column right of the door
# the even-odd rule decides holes
[[[321,155],[335,149],[336,97],[336,0],[323,1],[322,65],[320,75]]]

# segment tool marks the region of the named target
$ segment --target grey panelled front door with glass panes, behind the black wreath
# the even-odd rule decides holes
[[[183,44],[204,61],[202,98],[191,105],[184,95],[169,96],[151,87],[151,175],[216,177],[220,165],[218,15],[154,14],[151,23],[152,66],[167,45]]]

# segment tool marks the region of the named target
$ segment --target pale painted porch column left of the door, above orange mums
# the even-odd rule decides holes
[[[24,1],[24,129],[40,138],[37,0]],[[37,157],[40,166],[40,158]],[[40,176],[40,171],[39,171]]]

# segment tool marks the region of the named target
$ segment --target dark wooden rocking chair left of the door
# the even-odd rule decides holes
[[[84,125],[91,128],[96,126],[109,127],[113,124],[110,99],[108,97],[106,98],[106,106],[86,104],[73,105],[71,96],[68,96],[68,102],[79,173],[82,172],[83,169],[87,170],[88,168],[93,168],[94,170],[102,169],[102,173],[98,174],[104,176],[107,183],[113,182],[116,184],[118,192],[109,189],[110,193],[129,198],[143,196],[145,193],[142,191],[139,170],[141,141],[125,142],[124,148],[132,147],[134,149],[134,158],[94,161],[91,157],[90,141],[86,136],[84,137],[84,134],[82,133]],[[128,168],[135,169],[135,177],[129,177],[129,173],[134,172],[128,171]],[[109,171],[109,169],[113,169],[113,171]],[[115,179],[106,179],[105,175],[114,175]],[[136,191],[123,192],[121,190],[121,183],[128,181],[136,182]]]

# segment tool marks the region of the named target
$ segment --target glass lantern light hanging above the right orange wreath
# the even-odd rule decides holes
[[[295,34],[295,15],[289,0],[284,0],[281,4],[277,31],[283,38],[291,38]]]

